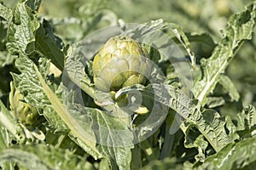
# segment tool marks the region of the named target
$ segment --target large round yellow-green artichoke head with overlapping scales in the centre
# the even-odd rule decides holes
[[[94,82],[103,92],[143,84],[152,70],[146,48],[130,37],[112,37],[95,55],[92,63]]]

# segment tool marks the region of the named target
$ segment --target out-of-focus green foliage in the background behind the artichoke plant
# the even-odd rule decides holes
[[[9,7],[13,7],[16,2],[17,0],[3,0]],[[48,20],[55,34],[66,43],[79,42],[84,36],[103,26],[163,19],[183,28],[188,34],[193,52],[201,59],[209,57],[216,44],[207,43],[207,39],[198,41],[195,35],[206,34],[213,42],[218,43],[224,36],[222,30],[230,15],[252,2],[253,0],[43,0],[38,16],[42,20]],[[1,39],[2,32],[4,31],[1,31]],[[253,35],[253,40],[245,42],[225,72],[241,94],[244,105],[256,105],[255,47],[256,37]],[[0,50],[3,51],[3,47]],[[3,65],[0,59],[1,98],[9,93],[9,71],[14,70],[12,60],[4,62]],[[237,106],[230,102],[220,109],[229,112],[232,107],[236,109]]]

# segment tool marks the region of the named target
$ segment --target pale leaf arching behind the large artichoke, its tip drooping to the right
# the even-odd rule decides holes
[[[180,73],[179,76],[188,76],[190,71],[188,71],[187,68],[183,68],[184,71],[181,72],[182,70],[179,66],[184,64],[177,64],[177,60],[185,59],[181,48],[179,48],[177,44],[182,45],[183,49],[187,54],[189,54],[191,65],[193,67],[195,66],[195,54],[192,52],[189,39],[182,28],[174,23],[164,22],[161,19],[151,20],[148,23],[136,26],[135,28],[126,31],[125,35],[138,42],[143,42],[153,48],[156,48],[161,55],[160,61],[170,59],[172,61],[172,65],[176,65],[175,68],[178,69],[177,72]],[[155,59],[152,60],[155,61]],[[190,69],[190,66],[188,67]],[[186,72],[189,73],[186,74]],[[190,75],[188,77],[190,77]]]

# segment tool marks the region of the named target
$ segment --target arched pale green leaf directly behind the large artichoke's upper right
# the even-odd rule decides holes
[[[169,41],[170,39],[173,38],[172,41],[175,41],[174,38],[177,38],[177,43],[182,44],[183,48],[189,54],[189,57],[191,59],[191,65],[195,66],[195,54],[193,54],[191,50],[189,39],[182,30],[182,28],[174,23],[164,22],[161,19],[151,20],[150,22],[145,23],[144,25],[139,25],[127,31],[126,35],[130,36],[135,40],[138,40],[139,42],[150,42],[148,43],[148,45],[152,46],[153,48],[157,48],[157,50],[159,50],[160,53],[162,51],[165,51],[166,47],[169,46],[170,48],[173,45],[173,42]],[[166,55],[165,58],[169,55]]]

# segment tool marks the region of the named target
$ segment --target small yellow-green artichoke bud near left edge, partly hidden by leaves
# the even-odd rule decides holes
[[[38,110],[22,101],[23,96],[20,94],[20,90],[14,87],[13,82],[11,82],[10,87],[9,102],[11,110],[15,112],[15,116],[20,122],[25,125],[32,125],[38,120]]]

